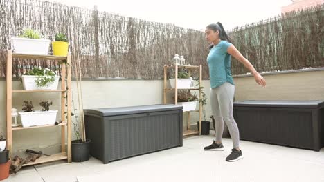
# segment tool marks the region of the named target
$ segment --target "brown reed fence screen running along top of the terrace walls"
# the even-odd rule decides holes
[[[323,25],[321,5],[234,28],[229,34],[259,72],[298,70],[324,66]],[[180,54],[187,64],[203,65],[203,79],[208,79],[204,32],[39,0],[0,1],[0,77],[6,77],[10,37],[24,28],[51,40],[58,32],[67,34],[73,77],[80,64],[84,78],[162,79],[163,65]],[[55,61],[15,59],[13,77],[35,65],[60,68]],[[233,74],[248,72],[235,59],[232,66]]]

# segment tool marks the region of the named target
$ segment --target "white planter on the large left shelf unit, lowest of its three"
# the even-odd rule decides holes
[[[18,112],[23,127],[33,125],[55,125],[57,110]]]

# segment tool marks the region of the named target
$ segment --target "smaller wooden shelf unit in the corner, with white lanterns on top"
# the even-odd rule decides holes
[[[174,68],[174,75],[177,77],[178,75],[178,68],[186,68],[189,70],[189,74],[191,74],[191,70],[192,69],[199,69],[199,88],[188,88],[188,89],[179,89],[178,86],[177,86],[177,82],[178,80],[175,79],[174,81],[174,88],[167,88],[167,70],[168,68]],[[202,98],[202,93],[201,93],[201,70],[202,70],[202,67],[201,65],[164,65],[164,94],[163,94],[163,103],[166,104],[167,101],[167,92],[172,90],[174,91],[174,98],[178,98],[178,90],[199,90],[199,99]],[[177,99],[174,99],[174,104],[177,104],[178,101]],[[183,136],[188,136],[188,135],[192,135],[192,134],[201,134],[201,102],[199,102],[199,110],[191,110],[191,111],[186,111],[188,112],[188,120],[187,120],[187,130],[185,132],[183,132]],[[190,112],[199,112],[199,131],[192,131],[190,130]]]

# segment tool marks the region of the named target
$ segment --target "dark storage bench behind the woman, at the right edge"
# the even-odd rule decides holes
[[[321,150],[324,147],[324,101],[235,102],[240,139]]]

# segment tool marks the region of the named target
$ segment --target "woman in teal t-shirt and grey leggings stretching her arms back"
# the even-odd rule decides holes
[[[216,140],[204,150],[224,150],[222,133],[225,121],[233,140],[233,149],[226,157],[226,161],[237,161],[243,158],[243,154],[239,145],[239,130],[233,118],[235,86],[231,75],[231,56],[250,70],[256,83],[265,86],[266,81],[231,43],[222,23],[210,24],[206,27],[205,34],[207,41],[211,43],[207,62],[210,74],[210,104],[215,119]]]

